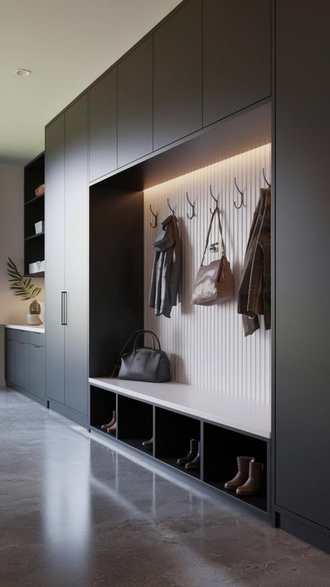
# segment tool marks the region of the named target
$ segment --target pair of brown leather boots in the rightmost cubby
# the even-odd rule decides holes
[[[237,474],[225,483],[225,489],[237,495],[256,495],[264,486],[264,465],[256,463],[252,456],[237,456]]]

